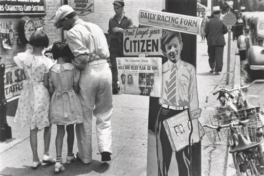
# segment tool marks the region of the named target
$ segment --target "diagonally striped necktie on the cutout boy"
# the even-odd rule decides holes
[[[176,101],[176,63],[171,68],[167,98],[172,104]]]

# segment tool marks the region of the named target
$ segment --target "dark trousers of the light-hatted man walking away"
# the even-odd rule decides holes
[[[223,67],[223,45],[209,45],[208,56],[209,65],[215,72],[221,72]]]

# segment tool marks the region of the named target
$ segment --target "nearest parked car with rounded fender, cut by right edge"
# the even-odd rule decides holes
[[[246,43],[247,63],[250,72],[264,70],[264,12],[255,13],[249,20],[249,34]]]

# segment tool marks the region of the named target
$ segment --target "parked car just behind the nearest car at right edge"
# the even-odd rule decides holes
[[[248,38],[248,33],[249,33],[249,20],[258,12],[242,12],[242,20],[243,20],[243,34],[238,37],[237,39],[237,46],[239,49],[239,55],[240,59],[244,60],[247,58],[247,50],[249,48],[249,44],[246,43],[246,40]]]

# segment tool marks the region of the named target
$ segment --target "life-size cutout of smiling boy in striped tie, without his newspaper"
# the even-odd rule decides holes
[[[162,65],[162,93],[159,98],[159,104],[162,106],[155,124],[158,176],[168,175],[172,157],[176,157],[178,175],[191,176],[189,151],[196,147],[194,144],[200,143],[198,117],[200,117],[201,109],[198,108],[196,70],[193,65],[180,59],[182,46],[179,32],[166,30],[161,37],[161,50],[168,61]],[[193,127],[190,143],[182,150],[173,152],[163,121],[187,108]],[[192,150],[189,150],[189,147]]]

